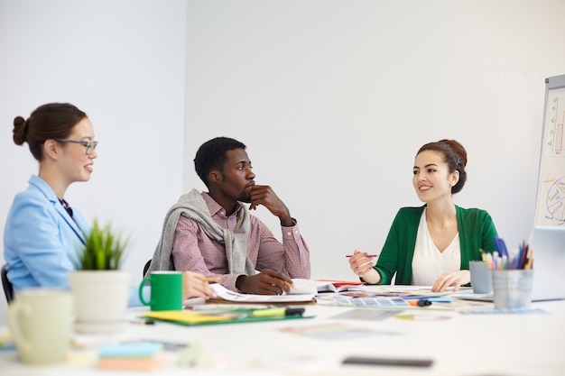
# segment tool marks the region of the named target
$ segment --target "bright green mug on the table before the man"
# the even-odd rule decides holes
[[[144,300],[143,289],[151,283],[151,301]],[[182,271],[152,271],[139,285],[139,299],[152,311],[182,309]]]

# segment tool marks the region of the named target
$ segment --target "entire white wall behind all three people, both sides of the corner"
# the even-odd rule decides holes
[[[314,278],[351,279],[343,255],[380,250],[398,207],[420,205],[415,151],[444,137],[469,153],[457,203],[517,244],[533,224],[543,79],[565,73],[562,14],[560,0],[0,0],[0,231],[37,170],[14,116],[69,101],[101,142],[69,202],[133,234],[134,280],[166,210],[203,188],[191,160],[217,135],[247,144],[257,182],[298,218]]]

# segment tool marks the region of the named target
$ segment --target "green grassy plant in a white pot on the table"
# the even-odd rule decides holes
[[[121,271],[128,240],[110,224],[94,221],[78,252],[75,271],[69,271],[69,286],[75,300],[75,330],[108,334],[125,327],[130,273]]]

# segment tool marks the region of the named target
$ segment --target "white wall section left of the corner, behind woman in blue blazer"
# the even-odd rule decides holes
[[[182,193],[186,2],[0,1],[0,236],[16,192],[37,173],[14,117],[71,102],[90,117],[98,158],[66,197],[110,220],[132,243],[133,282],[153,255],[162,219]],[[0,299],[0,325],[5,299]]]

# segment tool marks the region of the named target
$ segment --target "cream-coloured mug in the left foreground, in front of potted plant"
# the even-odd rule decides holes
[[[60,289],[23,289],[8,307],[8,326],[24,363],[64,362],[72,327],[72,296]]]

